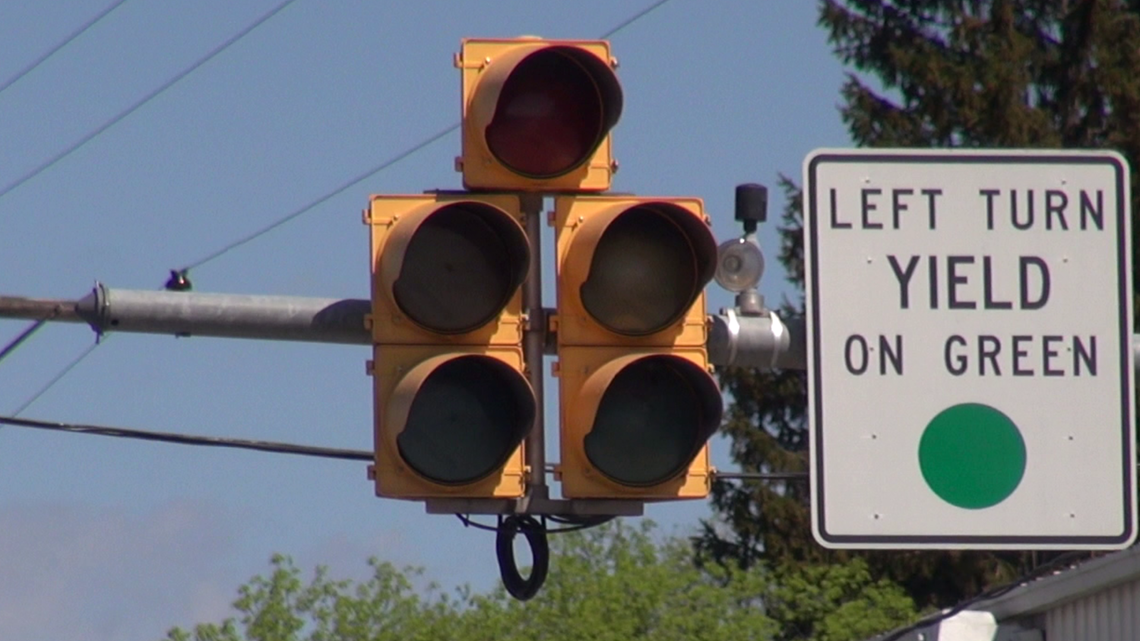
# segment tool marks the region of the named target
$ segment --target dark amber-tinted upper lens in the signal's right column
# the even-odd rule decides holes
[[[610,331],[659,332],[685,314],[708,282],[708,252],[694,246],[665,206],[671,205],[630,208],[597,242],[581,302]]]

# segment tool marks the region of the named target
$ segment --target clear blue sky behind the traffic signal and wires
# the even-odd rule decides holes
[[[276,0],[129,0],[0,92],[0,185],[81,138]],[[0,3],[0,80],[104,0]],[[0,197],[0,292],[74,298],[95,281],[158,289],[166,271],[294,211],[454,123],[464,36],[595,38],[646,2],[299,0],[50,170]],[[849,145],[842,68],[815,3],[673,0],[613,36],[626,108],[614,189],[700,196],[718,240],[733,187],[798,177]],[[458,188],[458,135],[192,273],[198,291],[366,298],[373,193]],[[762,229],[775,263],[775,220]],[[545,257],[553,253],[546,238]],[[547,261],[547,270],[549,265]],[[787,292],[769,267],[769,297]],[[547,298],[553,290],[548,287]],[[710,309],[731,297],[712,289]],[[26,326],[0,320],[0,343]],[[57,324],[0,363],[0,413],[93,340]],[[24,416],[164,431],[372,445],[365,347],[113,335]],[[548,393],[554,388],[548,386]],[[548,441],[556,406],[547,407]],[[732,469],[727,446],[715,462]],[[552,459],[556,453],[552,451]],[[689,534],[705,502],[651,505]],[[373,495],[363,463],[0,428],[0,638],[155,639],[218,620],[274,552],[360,577],[365,559],[443,586],[497,581],[492,537]]]

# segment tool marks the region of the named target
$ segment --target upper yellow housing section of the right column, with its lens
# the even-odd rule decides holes
[[[554,201],[560,346],[705,347],[716,241],[699,198]]]

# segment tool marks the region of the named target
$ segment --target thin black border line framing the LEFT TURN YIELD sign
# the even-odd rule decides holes
[[[822,163],[905,163],[905,164],[919,164],[919,163],[938,163],[938,164],[1109,164],[1116,173],[1116,253],[1117,253],[1117,265],[1121,269],[1117,274],[1117,297],[1121,301],[1121,314],[1119,314],[1119,333],[1121,333],[1121,371],[1123,376],[1121,376],[1121,417],[1123,419],[1123,464],[1124,470],[1124,532],[1115,536],[929,536],[929,535],[895,535],[895,536],[876,536],[876,535],[842,535],[842,534],[830,534],[826,529],[826,519],[824,510],[824,495],[823,495],[823,386],[820,379],[820,269],[819,269],[819,216],[816,212],[816,205],[819,198],[816,197],[816,169]],[[1124,233],[1126,211],[1129,209],[1130,194],[1124,193],[1124,179],[1127,176],[1127,167],[1119,162],[1119,159],[1114,155],[1093,155],[1093,154],[1082,154],[1082,155],[1066,155],[1066,154],[876,154],[876,153],[821,153],[812,157],[811,163],[807,168],[807,184],[804,185],[805,194],[807,194],[808,202],[811,206],[808,211],[805,211],[804,228],[808,230],[806,234],[805,242],[811,243],[811,265],[807,265],[807,277],[811,278],[812,284],[812,295],[806,299],[806,303],[809,306],[808,314],[812,316],[812,327],[815,331],[809,336],[812,341],[812,356],[813,359],[808,363],[808,374],[813,383],[813,396],[815,397],[815,419],[814,421],[814,433],[812,437],[815,439],[815,461],[813,480],[817,485],[814,488],[814,496],[819,498],[814,502],[813,508],[817,510],[816,524],[817,530],[816,536],[822,538],[821,543],[833,543],[837,545],[853,546],[861,543],[871,545],[883,545],[883,544],[898,544],[899,547],[903,544],[919,544],[923,546],[935,546],[937,544],[951,544],[951,545],[970,545],[972,547],[984,547],[986,544],[1000,545],[1000,546],[1013,546],[1013,545],[1050,545],[1050,546],[1062,546],[1068,545],[1072,547],[1081,547],[1083,545],[1097,545],[1097,546],[1109,546],[1109,545],[1123,545],[1130,539],[1132,539],[1132,528],[1133,528],[1133,492],[1132,487],[1132,471],[1131,466],[1135,465],[1135,455],[1133,453],[1134,444],[1131,436],[1129,425],[1131,424],[1132,414],[1132,326],[1131,326],[1131,309],[1124,309],[1123,302],[1129,299],[1127,291],[1127,276],[1129,270],[1131,270],[1131,261],[1127,260],[1127,242],[1129,238]]]

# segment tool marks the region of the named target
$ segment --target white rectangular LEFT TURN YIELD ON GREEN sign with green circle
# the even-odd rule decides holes
[[[821,149],[804,185],[816,541],[1131,544],[1126,161]]]

